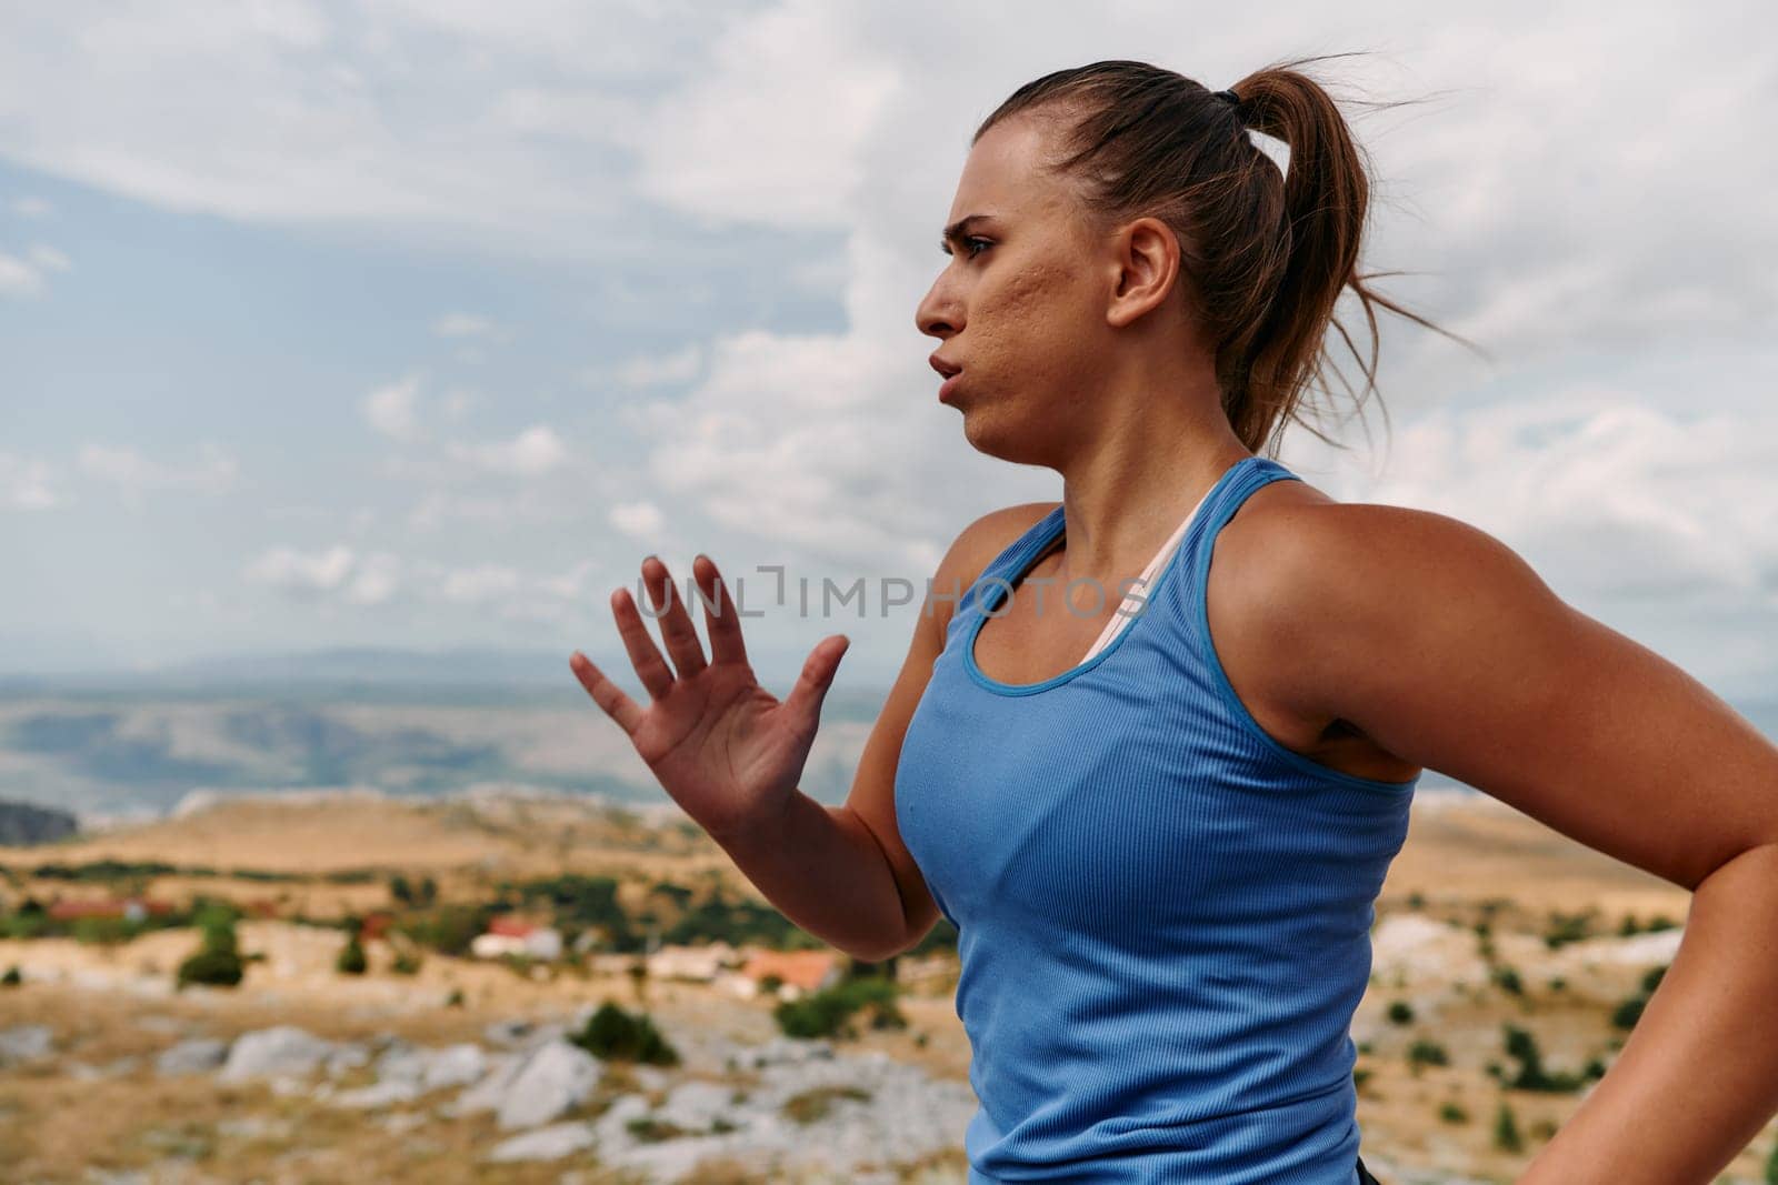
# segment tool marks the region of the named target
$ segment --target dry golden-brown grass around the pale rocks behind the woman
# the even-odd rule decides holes
[[[73,844],[0,851],[0,863],[21,876],[50,860],[78,865],[105,858],[316,876],[377,871],[361,885],[164,876],[142,887],[164,899],[204,892],[308,917],[388,906],[393,872],[434,876],[443,899],[484,892],[498,878],[558,872],[613,876],[626,906],[640,904],[647,885],[658,881],[722,883],[734,895],[757,899],[720,849],[670,810],[649,819],[574,799],[228,801]],[[28,883],[39,894],[48,885]],[[57,883],[52,895],[94,892]],[[1367,1164],[1390,1185],[1513,1180],[1579,1094],[1502,1089],[1488,1073],[1490,1064],[1511,1068],[1502,1025],[1534,1032],[1550,1068],[1609,1061],[1625,1036],[1611,1023],[1613,1007],[1634,995],[1662,950],[1670,958],[1678,934],[1620,936],[1620,926],[1627,917],[1638,929],[1654,919],[1684,924],[1687,903],[1684,890],[1494,799],[1422,796],[1378,901],[1373,986],[1353,1023]],[[1547,942],[1554,913],[1588,911],[1590,938],[1559,947]],[[1481,920],[1488,929],[1485,956],[1474,929]],[[564,1176],[560,1162],[485,1164],[480,1155],[498,1141],[487,1116],[345,1112],[263,1086],[222,1087],[210,1075],[156,1078],[153,1055],[181,1036],[231,1038],[279,1023],[341,1041],[379,1034],[425,1045],[475,1041],[491,1022],[567,1016],[601,998],[736,1041],[777,1032],[770,1004],[704,984],[656,981],[638,988],[624,975],[569,970],[533,979],[501,965],[437,956],[404,977],[389,974],[391,954],[377,942],[370,943],[370,974],[348,979],[332,970],[338,931],[274,919],[240,924],[242,950],[265,959],[238,990],[174,995],[155,988],[171,979],[192,945],[187,929],[114,947],[69,938],[0,942],[0,968],[18,963],[28,972],[23,988],[0,993],[0,1029],[43,1023],[57,1034],[55,1059],[0,1070],[0,1178],[87,1181],[96,1180],[96,1169],[165,1171],[176,1162],[196,1174],[190,1180],[228,1181],[621,1181],[629,1178],[601,1174],[587,1157],[573,1162],[578,1176]],[[1517,991],[1490,982],[1502,966],[1517,975]],[[446,1007],[453,991],[462,1004]],[[1412,1020],[1392,1020],[1392,1006],[1410,1009]],[[852,1045],[880,1048],[933,1077],[965,1080],[969,1050],[949,982],[909,991],[903,1013],[907,1030],[866,1032]],[[1417,1043],[1438,1045],[1442,1064],[1415,1057]],[[621,1086],[619,1075],[612,1089]],[[608,1101],[601,1087],[578,1114],[597,1114]],[[1495,1144],[1502,1103],[1513,1110],[1522,1151]],[[957,1116],[958,1142],[965,1119]],[[1719,1180],[1760,1181],[1773,1137],[1773,1130],[1762,1133]],[[750,1180],[740,1169],[709,1173],[708,1180]],[[917,1180],[962,1180],[962,1160],[933,1162]]]

